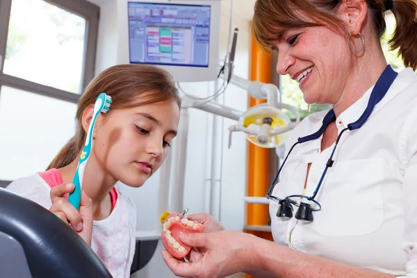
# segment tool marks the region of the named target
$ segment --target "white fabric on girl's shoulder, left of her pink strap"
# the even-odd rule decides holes
[[[42,178],[38,174],[35,174],[31,177],[24,177],[13,181],[6,189],[49,209],[52,205],[51,189],[46,182],[43,181],[42,183],[42,181]]]

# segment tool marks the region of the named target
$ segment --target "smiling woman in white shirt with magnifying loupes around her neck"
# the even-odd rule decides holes
[[[380,42],[388,12],[401,72]],[[257,0],[253,32],[306,103],[332,107],[286,141],[265,193],[275,243],[188,215],[206,233],[165,263],[179,277],[417,277],[417,1]]]

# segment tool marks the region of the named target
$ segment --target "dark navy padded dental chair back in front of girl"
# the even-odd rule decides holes
[[[110,272],[67,224],[0,188],[1,278],[106,278]]]

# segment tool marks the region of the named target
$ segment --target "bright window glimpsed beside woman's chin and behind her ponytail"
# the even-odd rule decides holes
[[[388,40],[391,38],[393,31],[395,29],[395,17],[389,12],[386,13],[386,33],[382,37],[382,47],[387,62],[393,67],[397,72],[404,70],[404,64],[402,59],[398,57],[397,51],[389,51]],[[305,117],[307,115],[307,104],[304,102],[302,92],[298,88],[298,83],[293,81],[290,76],[279,76],[279,84],[281,84],[280,91],[282,92],[282,101],[286,104],[290,104],[300,111],[300,117]],[[310,106],[310,113],[315,113],[318,111],[325,110],[329,107],[327,104],[318,105],[312,104]],[[293,113],[289,113],[290,117],[295,117]]]

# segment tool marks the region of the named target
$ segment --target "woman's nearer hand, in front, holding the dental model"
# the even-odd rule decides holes
[[[195,252],[190,256],[190,262],[184,262],[162,250],[168,268],[179,277],[227,277],[237,272],[253,270],[260,265],[254,252],[259,238],[250,234],[218,231],[181,234],[180,238],[186,245],[204,248],[206,252]]]

